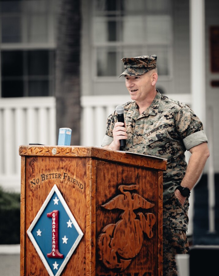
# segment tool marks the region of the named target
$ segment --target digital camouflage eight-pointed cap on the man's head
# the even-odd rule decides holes
[[[136,56],[121,59],[124,62],[125,71],[119,76],[139,76],[147,73],[149,70],[157,68],[157,56]]]

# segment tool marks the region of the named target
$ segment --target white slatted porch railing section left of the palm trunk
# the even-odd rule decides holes
[[[0,186],[20,192],[20,145],[57,144],[55,98],[0,99]]]

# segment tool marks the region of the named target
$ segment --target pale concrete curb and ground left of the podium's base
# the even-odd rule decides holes
[[[0,245],[0,275],[20,275],[20,244]]]

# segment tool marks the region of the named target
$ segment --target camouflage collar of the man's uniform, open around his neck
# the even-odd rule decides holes
[[[136,104],[136,102],[134,102],[133,109],[132,109],[131,113],[128,114],[128,117],[131,117],[132,119],[137,120],[138,118],[146,117],[148,115],[155,116],[158,114],[160,101],[161,101],[161,94],[157,90],[157,94],[156,94],[153,102],[147,109],[145,109],[145,111],[142,114],[139,114],[138,105]]]

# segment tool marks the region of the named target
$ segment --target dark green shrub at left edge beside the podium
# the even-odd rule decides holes
[[[0,244],[20,243],[20,194],[0,187]]]

